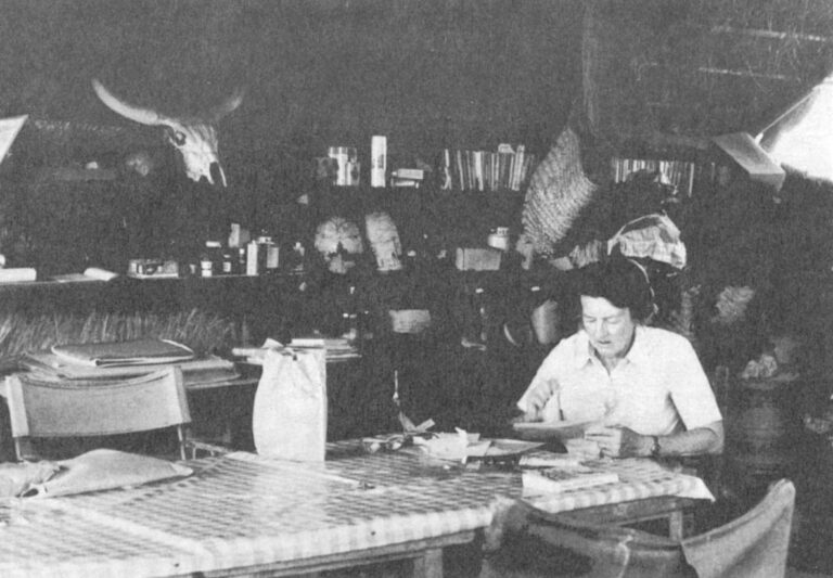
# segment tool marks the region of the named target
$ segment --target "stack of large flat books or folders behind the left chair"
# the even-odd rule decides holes
[[[189,347],[168,339],[55,345],[28,351],[18,361],[30,376],[44,382],[114,381],[144,375],[166,367],[182,370],[185,386],[219,383],[240,376],[234,363],[208,356],[196,358]]]

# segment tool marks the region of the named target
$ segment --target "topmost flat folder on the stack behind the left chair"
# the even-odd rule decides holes
[[[194,351],[169,339],[53,345],[52,352],[69,363],[88,367],[174,363],[194,358]]]

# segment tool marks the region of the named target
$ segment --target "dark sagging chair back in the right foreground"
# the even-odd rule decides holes
[[[679,541],[515,501],[487,532],[480,578],[783,577],[794,503],[795,487],[783,479],[739,518]]]

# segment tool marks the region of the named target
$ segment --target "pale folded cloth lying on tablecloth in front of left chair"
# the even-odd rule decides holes
[[[140,486],[171,477],[189,476],[190,467],[150,455],[111,449],[88,451],[57,462],[60,472],[31,484],[26,496],[49,498],[88,491]]]

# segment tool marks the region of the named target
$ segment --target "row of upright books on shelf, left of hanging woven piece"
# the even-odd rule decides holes
[[[536,157],[518,144],[497,152],[444,149],[439,188],[463,191],[520,191],[535,169]]]

